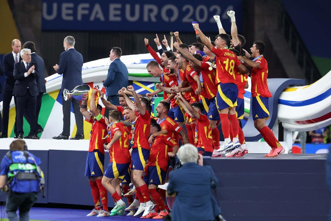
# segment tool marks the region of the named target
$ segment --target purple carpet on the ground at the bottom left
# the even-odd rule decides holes
[[[1,211],[5,210],[4,206],[1,206]],[[94,220],[116,220],[116,221],[130,221],[141,220],[140,217],[133,216],[112,216],[112,217],[95,217],[86,216],[91,210],[84,209],[58,209],[58,208],[41,208],[32,207],[30,210],[30,220],[54,220],[54,221],[94,221]],[[3,214],[3,213],[2,213]],[[4,217],[7,218],[5,213]]]

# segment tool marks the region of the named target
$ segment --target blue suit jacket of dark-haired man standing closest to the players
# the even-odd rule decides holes
[[[108,75],[103,85],[107,89],[107,95],[118,94],[122,87],[127,87],[129,81],[129,72],[125,64],[119,59],[113,60],[109,65]]]

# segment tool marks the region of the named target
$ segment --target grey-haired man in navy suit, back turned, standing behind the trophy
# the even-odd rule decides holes
[[[54,70],[59,74],[63,75],[62,86],[60,93],[62,94],[62,111],[63,111],[63,131],[53,139],[68,139],[70,136],[70,112],[71,103],[73,108],[73,113],[75,114],[77,132],[73,138],[70,139],[84,139],[84,129],[83,129],[83,115],[80,113],[79,101],[70,98],[67,101],[63,98],[63,90],[72,90],[78,85],[83,84],[82,80],[82,66],[83,66],[83,56],[74,49],[75,39],[72,36],[65,37],[63,41],[63,46],[65,52],[60,55],[59,65],[54,65]]]

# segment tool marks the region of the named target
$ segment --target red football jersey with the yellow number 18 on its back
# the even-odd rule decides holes
[[[216,55],[216,84],[236,83],[234,68],[240,65],[238,57],[229,49],[213,47],[212,52]]]

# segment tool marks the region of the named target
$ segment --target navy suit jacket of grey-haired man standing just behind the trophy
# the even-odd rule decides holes
[[[63,75],[60,92],[64,89],[72,90],[83,84],[82,80],[83,56],[74,48],[62,52],[57,73]]]

